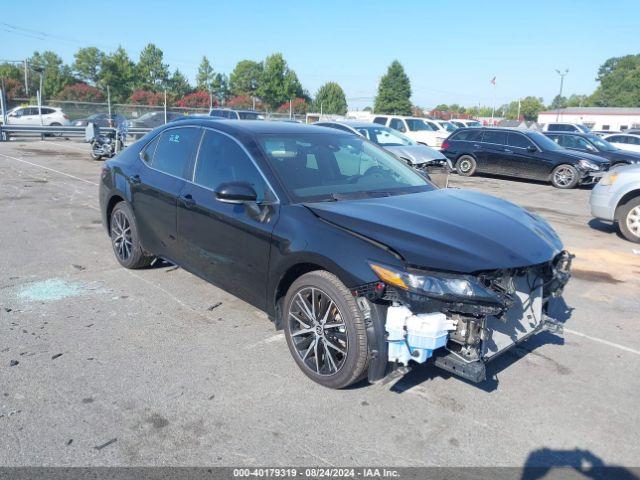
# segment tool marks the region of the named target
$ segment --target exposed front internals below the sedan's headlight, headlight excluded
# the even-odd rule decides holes
[[[562,331],[547,307],[568,282],[571,260],[563,251],[548,263],[481,272],[474,277],[486,289],[484,296],[436,298],[390,285],[393,279],[367,285],[357,295],[387,307],[386,356],[392,367],[433,357],[436,366],[479,382],[486,376],[485,362],[542,330]],[[408,276],[403,280],[412,282]],[[429,289],[434,291],[433,285]]]

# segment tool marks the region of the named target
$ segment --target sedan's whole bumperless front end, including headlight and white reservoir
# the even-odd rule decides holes
[[[486,362],[542,330],[562,331],[547,307],[568,282],[571,260],[562,251],[543,264],[474,275],[371,263],[380,282],[353,292],[362,300],[370,340],[376,337],[369,379],[433,357],[444,370],[484,380]]]

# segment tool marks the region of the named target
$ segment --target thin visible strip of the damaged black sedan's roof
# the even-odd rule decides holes
[[[215,118],[190,118],[177,120],[171,123],[178,125],[198,125],[202,127],[215,127],[226,133],[249,133],[249,134],[296,134],[296,133],[332,133],[350,135],[340,132],[334,128],[307,125],[305,123],[278,122],[264,120],[225,120],[220,121]]]

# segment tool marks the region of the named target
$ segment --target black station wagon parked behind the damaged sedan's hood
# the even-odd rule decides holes
[[[559,146],[542,133],[508,128],[462,128],[442,144],[460,175],[491,173],[550,181],[556,188],[595,183],[609,162]]]

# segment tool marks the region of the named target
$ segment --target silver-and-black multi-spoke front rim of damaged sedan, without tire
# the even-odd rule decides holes
[[[305,287],[294,295],[287,315],[291,340],[304,366],[316,375],[335,375],[347,359],[347,327],[329,295]]]

